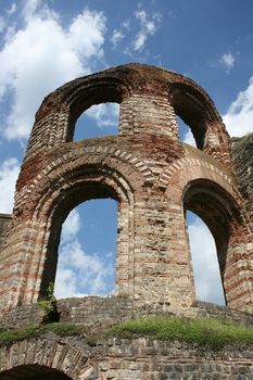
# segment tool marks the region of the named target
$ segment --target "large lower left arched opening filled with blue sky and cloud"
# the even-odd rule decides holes
[[[58,299],[110,296],[115,288],[117,202],[89,200],[63,224],[54,283]]]

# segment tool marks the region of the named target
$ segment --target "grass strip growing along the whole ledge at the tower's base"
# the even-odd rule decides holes
[[[231,344],[253,344],[253,328],[235,322],[210,318],[150,317],[122,322],[99,335],[92,337],[86,337],[84,327],[67,322],[54,322],[18,330],[1,331],[0,346],[39,337],[49,331],[60,337],[78,335],[84,338],[90,346],[94,346],[99,339],[107,339],[110,337],[127,339],[150,337],[157,340],[177,340],[212,350],[222,350],[224,346]]]

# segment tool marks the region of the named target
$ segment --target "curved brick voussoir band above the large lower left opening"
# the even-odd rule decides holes
[[[23,217],[33,214],[37,219],[40,211],[45,208],[45,203],[50,203],[53,197],[58,197],[58,192],[73,186],[75,180],[81,181],[86,178],[88,180],[88,175],[84,175],[81,178],[80,169],[83,168],[85,174],[85,168],[91,166],[93,167],[93,174],[91,174],[94,180],[99,181],[103,175],[104,178],[107,178],[109,186],[111,180],[114,181],[114,188],[116,192],[118,191],[119,199],[121,191],[134,194],[144,183],[153,181],[153,174],[146,163],[130,153],[107,147],[75,149],[51,162],[38,174],[29,188],[26,188],[20,194],[20,199],[16,199],[15,210],[24,208]]]

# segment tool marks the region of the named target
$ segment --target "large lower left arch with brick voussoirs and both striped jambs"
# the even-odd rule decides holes
[[[132,161],[131,155],[119,160],[121,151],[116,151],[115,156],[94,151],[87,155],[83,151],[73,160],[66,155],[58,159],[55,165],[50,164],[27,193],[29,202],[20,205],[23,220],[33,213],[28,228],[23,223],[27,258],[16,292],[20,302],[35,302],[43,296],[48,283],[54,279],[62,223],[72,208],[92,198],[113,198],[118,202],[115,294],[130,296],[134,292],[134,191],[147,180],[146,167]],[[22,255],[24,257],[24,252]],[[33,282],[27,274],[33,274]]]

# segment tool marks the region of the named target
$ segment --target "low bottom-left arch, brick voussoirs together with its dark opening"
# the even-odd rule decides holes
[[[87,362],[90,357],[88,346],[84,349],[84,346],[73,345],[62,339],[23,340],[1,346],[0,355],[0,378],[4,380],[34,379],[26,377],[31,373],[38,376],[38,378],[35,377],[35,380],[40,380],[40,373],[49,376],[48,378],[42,377],[41,380],[79,380],[81,376],[96,373],[94,368]],[[16,373],[18,377],[15,377]],[[87,379],[90,378],[92,377],[87,376]]]

